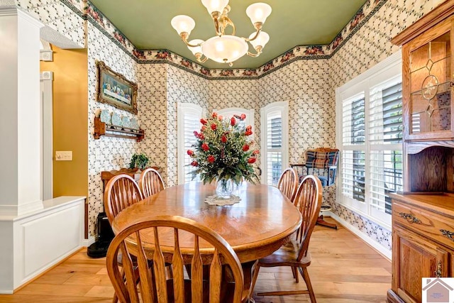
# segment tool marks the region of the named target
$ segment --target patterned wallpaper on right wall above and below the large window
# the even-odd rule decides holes
[[[328,62],[331,71],[328,76],[328,83],[331,86],[328,94],[331,96],[333,106],[337,87],[341,87],[399,50],[399,47],[392,45],[391,38],[432,9],[433,1],[430,0],[385,1]],[[333,212],[384,248],[392,249],[392,233],[387,228],[373,223],[341,204],[333,204]]]

